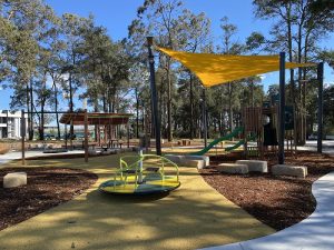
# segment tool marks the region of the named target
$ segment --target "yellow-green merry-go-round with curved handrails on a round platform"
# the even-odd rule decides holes
[[[160,156],[140,153],[120,158],[114,178],[101,183],[99,190],[114,194],[154,194],[179,186],[176,163]]]

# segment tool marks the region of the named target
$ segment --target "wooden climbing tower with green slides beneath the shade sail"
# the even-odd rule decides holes
[[[294,108],[285,107],[285,151],[295,153],[295,126]],[[204,149],[190,153],[191,156],[203,156],[222,141],[240,137],[242,139],[230,147],[225,148],[225,152],[243,147],[246,157],[276,156],[278,152],[278,107],[275,102],[265,102],[263,107],[247,107],[242,110],[242,127],[237,127],[233,132],[210,142]],[[252,143],[248,143],[252,142]]]

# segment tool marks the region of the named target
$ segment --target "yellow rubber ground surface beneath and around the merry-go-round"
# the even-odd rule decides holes
[[[180,167],[181,186],[166,197],[105,196],[118,156],[28,161],[29,167],[90,170],[98,181],[73,200],[0,231],[1,250],[198,249],[274,232],[209,187],[197,169]],[[20,166],[7,163],[3,167]]]

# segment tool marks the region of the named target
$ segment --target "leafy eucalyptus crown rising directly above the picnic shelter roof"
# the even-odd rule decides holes
[[[85,52],[84,71],[87,86],[86,97],[99,110],[102,101],[105,112],[115,112],[121,108],[121,101],[128,93],[129,60],[125,44],[114,42],[102,27],[91,23],[86,30],[82,51]],[[124,100],[120,100],[124,99]]]

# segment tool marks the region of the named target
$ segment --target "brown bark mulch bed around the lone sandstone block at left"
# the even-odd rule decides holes
[[[27,172],[28,184],[3,189],[9,172]],[[95,173],[68,168],[0,169],[0,230],[71,200],[97,179]]]

